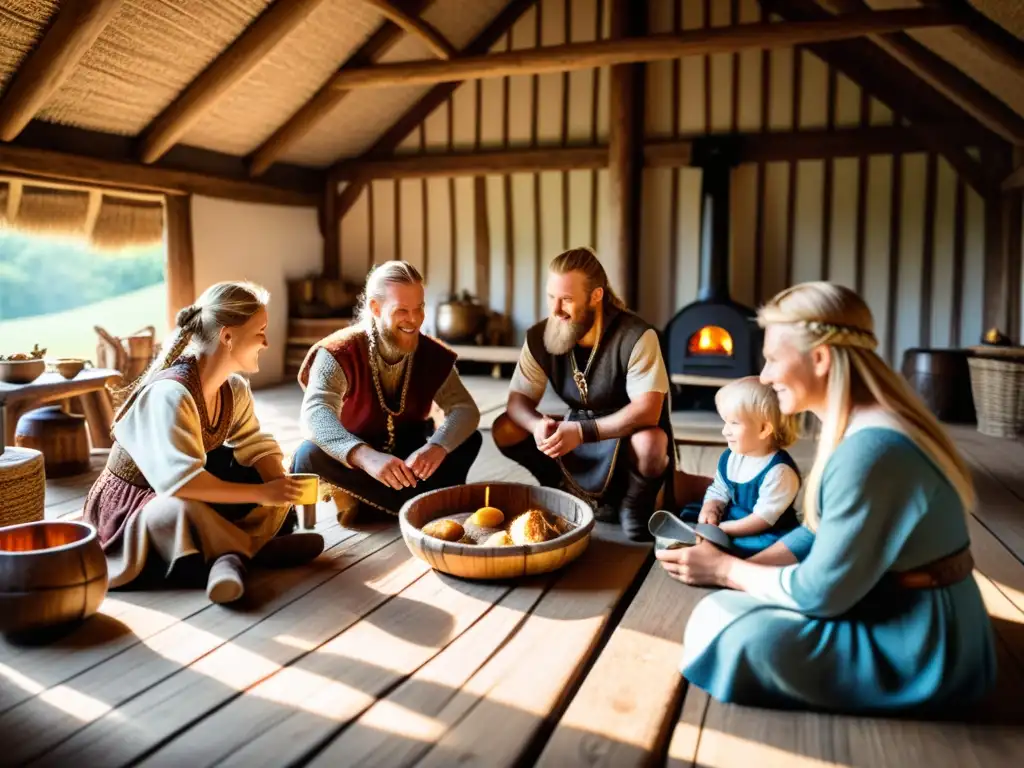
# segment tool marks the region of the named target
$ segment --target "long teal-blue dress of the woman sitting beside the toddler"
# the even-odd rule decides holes
[[[882,582],[970,543],[959,497],[906,435],[849,434],[825,467],[810,553],[749,592],[697,604],[681,671],[715,698],[850,713],[941,712],[995,680],[974,579],[931,590]]]

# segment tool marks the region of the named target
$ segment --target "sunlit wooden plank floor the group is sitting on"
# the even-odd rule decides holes
[[[485,426],[506,386],[472,381]],[[298,402],[292,386],[257,393],[286,451]],[[327,551],[254,572],[241,606],[119,591],[59,640],[0,640],[0,765],[1021,765],[1024,443],[951,431],[976,470],[975,578],[1000,655],[999,690],[963,722],[770,712],[688,688],[682,632],[706,591],[608,526],[563,571],[474,584],[413,559],[393,523],[342,528],[322,505]],[[805,468],[811,449],[795,452]],[[708,473],[718,454],[686,447],[683,466]],[[48,483],[47,517],[80,513],[101,461]],[[532,481],[487,435],[470,475],[486,479]]]

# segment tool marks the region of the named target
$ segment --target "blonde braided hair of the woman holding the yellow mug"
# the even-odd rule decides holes
[[[209,349],[220,337],[222,328],[245,324],[269,300],[269,292],[255,283],[215,283],[195,304],[179,309],[174,318],[174,333],[164,342],[160,354],[141,376],[120,390],[124,401],[114,421],[121,420],[145,385],[161,371],[173,366],[189,344],[195,342],[200,350]]]

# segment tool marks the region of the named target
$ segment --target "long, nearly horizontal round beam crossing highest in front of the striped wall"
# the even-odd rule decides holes
[[[478,78],[590,70],[746,48],[765,49],[822,43],[948,24],[949,15],[943,11],[911,8],[851,13],[841,17],[827,15],[821,20],[814,22],[757,23],[703,28],[646,37],[548,45],[502,53],[484,52],[460,56],[451,61],[398,61],[351,69],[339,73],[335,87],[351,89],[425,85]]]

